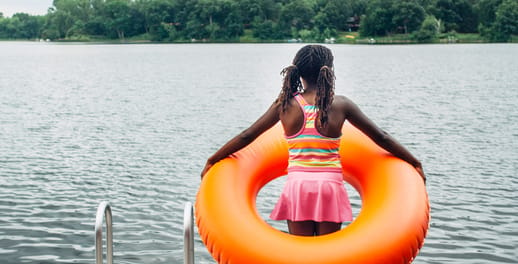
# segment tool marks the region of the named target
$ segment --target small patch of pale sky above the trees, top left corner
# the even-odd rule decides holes
[[[15,13],[31,15],[45,15],[52,6],[53,0],[0,0],[0,12],[4,17],[11,17]]]

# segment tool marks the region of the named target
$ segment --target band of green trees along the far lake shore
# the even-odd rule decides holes
[[[46,15],[0,10],[0,39],[322,41],[445,32],[506,42],[518,35],[516,0],[54,0]]]

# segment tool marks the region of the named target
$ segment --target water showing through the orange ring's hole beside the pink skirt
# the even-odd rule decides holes
[[[270,219],[270,213],[272,212],[275,203],[277,203],[277,200],[279,199],[282,193],[282,189],[284,187],[284,184],[286,183],[286,179],[286,176],[281,176],[275,178],[274,180],[268,182],[265,186],[263,186],[257,194],[255,200],[255,207],[258,214],[268,225],[281,232],[288,233],[288,226],[286,224],[286,221],[275,221]],[[358,214],[361,211],[362,200],[360,194],[353,186],[351,186],[349,183],[345,181],[344,186],[349,196],[354,221],[356,216],[358,216]],[[346,228],[350,223],[351,222],[344,222],[342,224],[342,229]]]

